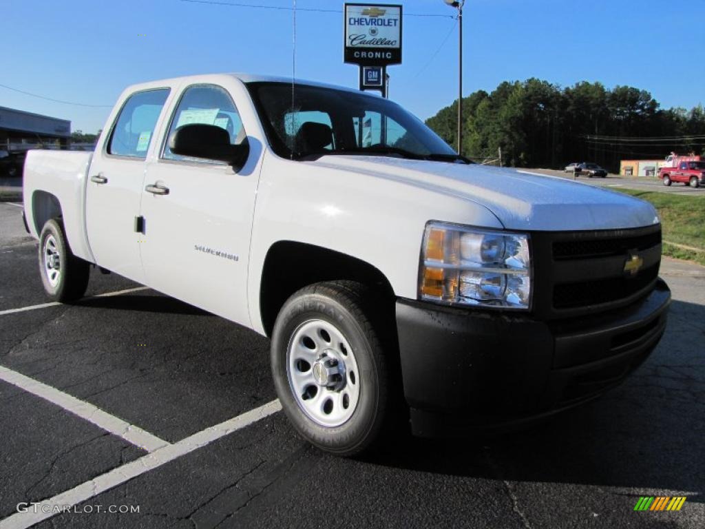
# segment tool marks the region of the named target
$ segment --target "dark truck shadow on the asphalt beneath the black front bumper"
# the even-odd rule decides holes
[[[703,343],[705,307],[673,301],[656,351],[600,399],[529,429],[464,441],[407,439],[365,460],[513,482],[672,490],[705,502]]]

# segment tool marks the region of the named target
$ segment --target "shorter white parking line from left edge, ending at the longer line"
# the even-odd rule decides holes
[[[31,394],[42,397],[45,401],[56,404],[60,408],[78,415],[78,417],[92,422],[97,427],[102,428],[106,432],[122,437],[125,441],[139,446],[141,449],[148,452],[154,452],[164,446],[168,446],[168,442],[164,439],[159,439],[149,432],[145,432],[142,428],[131,425],[122,419],[110,415],[97,406],[86,401],[76,399],[59,389],[56,389],[47,384],[42,384],[39,380],[26,377],[22,373],[18,373],[7,367],[0,365],[0,380],[9,382],[20,389],[24,389]]]

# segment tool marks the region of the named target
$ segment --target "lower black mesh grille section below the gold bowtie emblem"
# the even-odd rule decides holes
[[[633,279],[622,276],[558,284],[553,287],[553,308],[586,307],[628,298],[656,281],[656,276],[658,265],[644,269]]]

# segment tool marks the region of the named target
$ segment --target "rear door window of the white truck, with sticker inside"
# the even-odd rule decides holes
[[[108,154],[144,159],[168,95],[168,88],[162,88],[128,97],[110,135]]]

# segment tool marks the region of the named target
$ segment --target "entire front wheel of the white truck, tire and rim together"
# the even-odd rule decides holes
[[[362,284],[319,283],[291,296],[274,325],[271,368],[284,412],[307,441],[340,456],[368,448],[386,417],[377,307]]]

